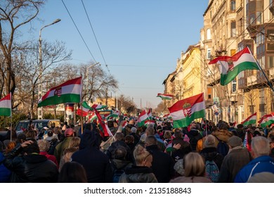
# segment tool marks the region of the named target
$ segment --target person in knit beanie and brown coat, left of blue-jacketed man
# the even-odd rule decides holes
[[[229,146],[228,155],[223,159],[218,182],[233,183],[236,174],[244,165],[252,159],[249,151],[242,147],[242,139],[238,136],[231,136],[227,142]]]

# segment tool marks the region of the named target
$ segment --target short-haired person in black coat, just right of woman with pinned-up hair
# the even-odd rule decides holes
[[[152,172],[159,183],[168,183],[174,177],[174,160],[167,153],[163,153],[157,146],[157,139],[150,135],[145,139],[145,148],[152,152]]]

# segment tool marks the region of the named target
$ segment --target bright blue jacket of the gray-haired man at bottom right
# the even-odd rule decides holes
[[[270,156],[260,156],[245,165],[240,172],[237,173],[234,182],[246,183],[250,177],[260,172],[274,173],[274,160]]]

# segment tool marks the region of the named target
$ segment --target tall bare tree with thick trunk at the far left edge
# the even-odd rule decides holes
[[[16,43],[19,29],[23,25],[30,23],[39,13],[39,7],[44,1],[34,0],[5,0],[0,1],[0,55],[1,58],[1,80],[4,88],[1,89],[6,94],[15,91],[15,71],[13,68],[14,53],[22,49],[22,45]],[[4,29],[2,27],[5,27]]]

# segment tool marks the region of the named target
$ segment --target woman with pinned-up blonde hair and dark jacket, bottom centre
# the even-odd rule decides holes
[[[133,151],[136,164],[126,168],[119,178],[119,183],[157,183],[152,169],[152,153],[138,144]]]

